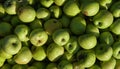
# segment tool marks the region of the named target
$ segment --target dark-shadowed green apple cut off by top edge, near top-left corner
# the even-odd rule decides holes
[[[14,0],[9,1],[7,0],[5,2],[5,12],[9,15],[15,15],[16,14],[16,9],[17,9],[17,2]]]

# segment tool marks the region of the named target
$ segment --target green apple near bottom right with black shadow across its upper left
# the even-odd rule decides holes
[[[92,50],[80,50],[77,53],[77,61],[81,66],[88,68],[95,64],[96,55]]]

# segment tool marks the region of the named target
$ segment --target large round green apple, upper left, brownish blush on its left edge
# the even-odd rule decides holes
[[[32,22],[36,17],[36,11],[31,6],[24,6],[18,9],[18,17],[24,23]]]

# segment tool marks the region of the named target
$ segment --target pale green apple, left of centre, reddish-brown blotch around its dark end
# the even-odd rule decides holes
[[[47,42],[48,35],[42,28],[37,28],[32,30],[29,39],[34,46],[38,47],[44,45]]]

